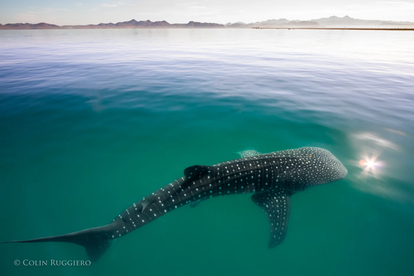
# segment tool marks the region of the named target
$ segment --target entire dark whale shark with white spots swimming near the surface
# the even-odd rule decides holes
[[[195,207],[212,197],[249,193],[267,214],[268,247],[272,248],[286,237],[292,195],[311,186],[344,179],[348,173],[335,155],[323,148],[303,147],[272,153],[245,150],[239,154],[241,158],[235,160],[184,169],[183,177],[132,204],[107,225],[8,242],[72,242],[82,245],[89,260],[94,262],[116,239],[181,206]]]

